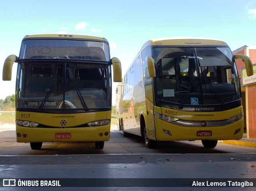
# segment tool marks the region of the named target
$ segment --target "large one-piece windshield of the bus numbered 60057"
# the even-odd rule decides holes
[[[241,98],[238,72],[228,47],[155,47],[158,101],[222,104]]]

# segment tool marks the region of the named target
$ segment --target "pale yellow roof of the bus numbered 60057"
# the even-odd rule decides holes
[[[143,50],[152,45],[227,45],[226,42],[218,39],[199,38],[199,37],[164,37],[146,41],[142,46]]]

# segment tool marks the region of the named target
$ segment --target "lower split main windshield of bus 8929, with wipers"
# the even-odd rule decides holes
[[[22,62],[17,108],[90,110],[111,106],[109,64]]]

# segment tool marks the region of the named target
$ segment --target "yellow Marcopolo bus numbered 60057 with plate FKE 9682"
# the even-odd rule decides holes
[[[144,43],[116,88],[117,127],[146,147],[159,141],[241,139],[243,108],[235,59],[224,41],[160,38]]]

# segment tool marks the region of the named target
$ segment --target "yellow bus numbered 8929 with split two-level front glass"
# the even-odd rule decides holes
[[[26,35],[20,55],[10,55],[3,80],[16,79],[16,138],[30,142],[95,142],[110,139],[113,81],[122,80],[119,59],[110,59],[106,38],[85,35]]]

